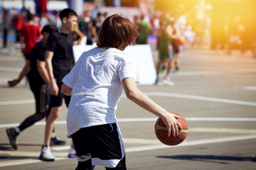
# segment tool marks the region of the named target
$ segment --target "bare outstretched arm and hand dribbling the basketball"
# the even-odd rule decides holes
[[[161,106],[157,105],[148,96],[143,94],[142,91],[139,91],[134,79],[130,77],[123,79],[122,86],[124,87],[127,98],[129,98],[134,103],[137,103],[137,105],[141,106],[147,111],[154,113],[154,115],[159,116],[164,121],[164,124],[168,129],[169,136],[171,135],[171,132],[174,137],[178,135],[178,128],[182,130],[182,127],[176,119],[178,118],[177,115],[169,113],[164,108],[161,108]]]

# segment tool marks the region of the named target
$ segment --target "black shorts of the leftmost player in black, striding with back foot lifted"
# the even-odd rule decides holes
[[[31,86],[31,91],[36,100],[36,113],[46,113],[49,109],[50,94],[47,84]]]

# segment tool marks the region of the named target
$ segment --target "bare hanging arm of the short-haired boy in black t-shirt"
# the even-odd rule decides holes
[[[53,52],[46,50],[46,69],[48,72],[48,76],[50,79],[50,94],[52,94],[53,96],[58,96],[58,85],[55,82],[54,79],[54,75],[53,75],[53,64],[52,64],[52,60],[53,60]]]

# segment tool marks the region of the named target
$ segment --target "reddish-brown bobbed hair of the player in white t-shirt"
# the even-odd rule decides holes
[[[127,47],[134,45],[139,35],[134,23],[117,14],[109,16],[102,23],[100,35],[98,38],[98,47]]]

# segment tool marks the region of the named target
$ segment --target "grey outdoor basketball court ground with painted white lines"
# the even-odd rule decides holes
[[[67,157],[70,140],[64,105],[55,132],[67,144],[51,147],[55,162],[38,160],[44,120],[21,132],[18,149],[11,148],[6,128],[16,127],[35,108],[25,79],[14,88],[6,85],[23,67],[21,54],[1,54],[0,61],[0,169],[75,169],[76,159]],[[188,121],[188,136],[180,145],[163,145],[154,134],[156,116],[123,95],[117,118],[127,169],[256,169],[256,162],[252,162],[256,156],[256,60],[247,53],[228,56],[210,50],[185,50],[181,72],[172,73],[171,79],[175,86],[138,87],[166,110],[181,113]]]

